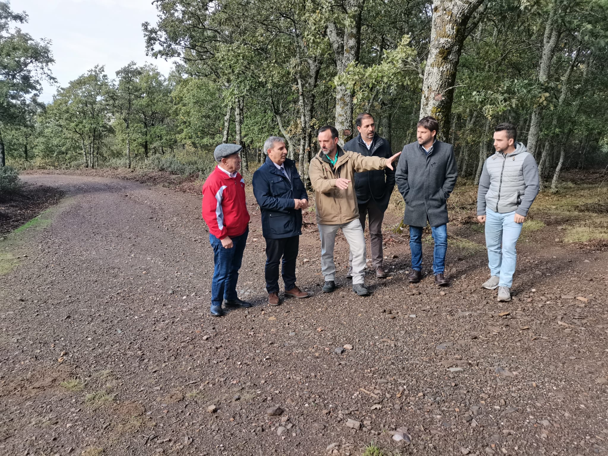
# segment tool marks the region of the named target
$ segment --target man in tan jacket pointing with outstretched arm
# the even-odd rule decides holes
[[[393,161],[401,152],[385,159],[365,157],[344,151],[338,145],[338,131],[330,125],[319,129],[319,154],[313,157],[308,168],[314,188],[317,224],[321,238],[321,271],[325,278],[323,292],[336,289],[334,241],[337,230],[342,229],[353,257],[353,291],[359,296],[369,294],[364,285],[365,237],[359,221],[357,196],[351,182],[354,173],[393,169]]]

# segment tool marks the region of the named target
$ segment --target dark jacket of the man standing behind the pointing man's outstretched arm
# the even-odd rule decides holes
[[[393,156],[389,142],[377,134],[369,149],[359,134],[344,145],[344,150],[350,150],[365,157],[390,158]],[[393,188],[395,188],[395,171],[389,170],[389,168],[354,173],[354,190],[357,193],[358,204],[365,204],[373,199],[376,206],[384,212],[389,206]]]

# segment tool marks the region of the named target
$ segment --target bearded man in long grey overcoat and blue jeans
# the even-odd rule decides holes
[[[422,232],[427,221],[433,235],[433,274],[437,285],[449,285],[444,277],[447,251],[447,205],[458,170],[454,148],[436,139],[439,123],[434,117],[418,122],[418,141],[403,147],[395,180],[406,201],[403,223],[410,226],[412,272],[410,282],[422,278]]]

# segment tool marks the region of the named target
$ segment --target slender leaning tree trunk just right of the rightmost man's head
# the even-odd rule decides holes
[[[543,39],[541,61],[538,66],[538,81],[542,86],[547,83],[549,78],[549,72],[551,71],[551,61],[555,55],[555,49],[558,44],[559,35],[561,32],[558,29],[558,5],[557,0],[553,0],[551,4],[551,12],[547,25],[545,26],[545,35]],[[530,119],[530,131],[528,132],[528,152],[530,152],[535,159],[538,159],[538,153],[536,150],[539,137],[541,136],[541,121],[542,111],[544,106],[538,103],[534,106],[532,111],[532,117]]]

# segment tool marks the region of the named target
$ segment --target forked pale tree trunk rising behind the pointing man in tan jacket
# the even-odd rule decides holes
[[[327,26],[327,36],[336,57],[337,75],[359,59],[364,4],[365,0],[345,0],[343,5],[350,20],[345,21],[344,30],[339,30],[334,22]],[[353,91],[342,84],[336,86],[336,129],[340,145],[353,137]]]

